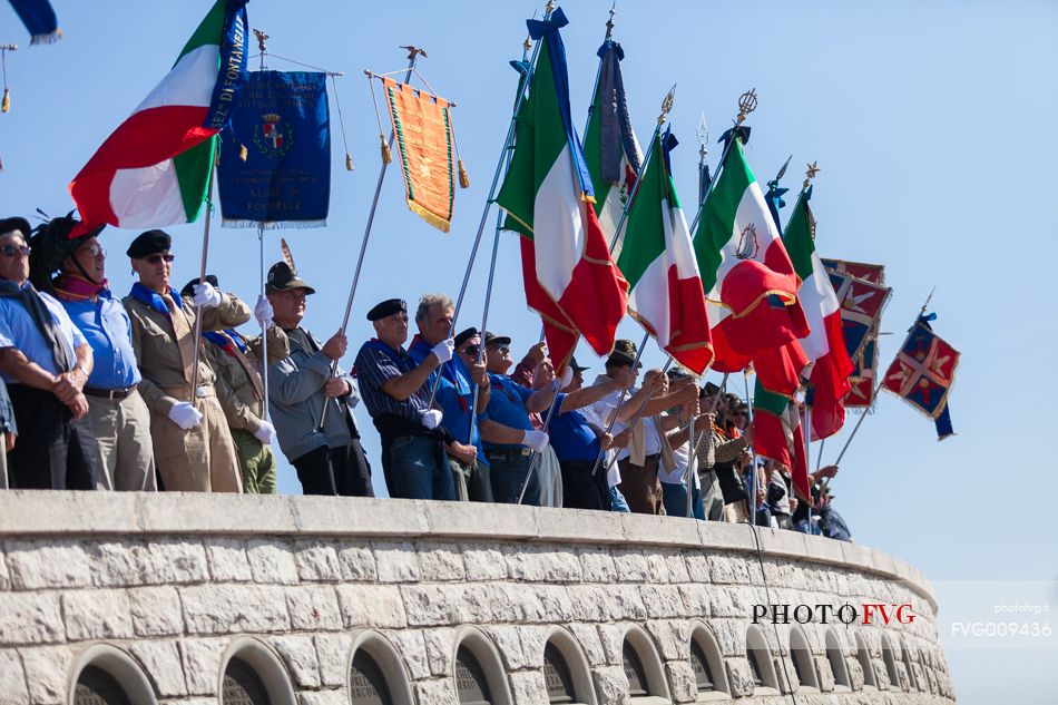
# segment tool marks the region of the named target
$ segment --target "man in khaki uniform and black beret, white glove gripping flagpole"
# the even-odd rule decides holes
[[[121,302],[133,324],[133,347],[144,379],[139,392],[150,409],[155,464],[169,491],[241,492],[235,443],[217,401],[216,374],[198,360],[195,316],[203,331],[234,327],[249,320],[249,306],[209,284],[197,284],[194,298],[182,300],[169,288],[172,238],[147,231],[129,245],[127,255],[139,281]]]

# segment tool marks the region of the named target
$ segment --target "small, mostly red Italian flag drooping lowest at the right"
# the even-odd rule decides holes
[[[753,391],[753,449],[790,470],[801,499],[812,497],[809,460],[797,405],[783,394],[770,392],[757,379]]]

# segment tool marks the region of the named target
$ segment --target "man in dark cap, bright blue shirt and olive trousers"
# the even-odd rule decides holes
[[[478,353],[483,355],[484,352],[480,350],[480,345],[478,329],[467,329],[455,336],[455,354],[441,368],[443,372],[437,401],[443,413],[441,425],[448,429],[453,438],[445,450],[455,483],[455,499],[491,502],[493,499],[489,461],[484,457],[478,424],[478,419],[488,408],[491,395],[484,358],[482,356],[482,362],[478,362]],[[476,386],[478,405],[471,413]]]

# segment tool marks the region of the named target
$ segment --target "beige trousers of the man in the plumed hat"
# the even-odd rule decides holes
[[[150,412],[139,392],[121,400],[87,396],[88,424],[99,458],[97,490],[158,489],[150,439]]]

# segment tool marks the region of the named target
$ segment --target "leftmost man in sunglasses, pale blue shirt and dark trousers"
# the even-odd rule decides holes
[[[0,372],[18,442],[7,444],[17,489],[90,489],[99,468],[81,391],[92,370],[88,341],[62,305],[29,281],[29,223],[0,221]]]

